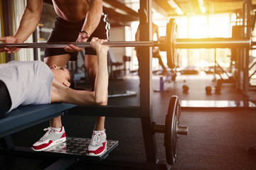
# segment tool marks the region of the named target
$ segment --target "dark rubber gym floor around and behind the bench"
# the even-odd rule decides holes
[[[137,76],[134,76],[135,78]],[[153,92],[153,115],[156,123],[164,123],[169,99],[173,95],[181,100],[244,100],[233,84],[223,84],[220,94],[206,95],[205,87],[214,86],[213,75],[178,76],[176,81],[164,84],[167,92]],[[183,93],[182,86],[189,86]],[[159,89],[159,77],[154,76],[153,89]],[[109,105],[139,106],[139,79],[110,81],[110,94],[125,90],[136,91],[137,96],[109,98]],[[256,157],[247,153],[256,145],[256,114],[253,109],[186,109],[181,111],[181,125],[188,126],[188,135],[179,137],[178,159],[171,169],[256,169]],[[64,115],[63,125],[70,137],[91,137],[95,118]],[[43,134],[48,122],[12,135],[18,146],[31,147]],[[119,145],[110,154],[122,157],[145,158],[142,128],[136,118],[106,118],[108,140]],[[156,134],[158,157],[165,158],[164,135]],[[0,169],[45,169],[55,159],[36,159],[0,155]],[[129,169],[78,162],[68,169]]]

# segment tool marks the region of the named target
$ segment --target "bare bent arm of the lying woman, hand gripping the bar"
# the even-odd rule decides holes
[[[60,102],[73,103],[78,105],[102,104],[107,100],[108,72],[107,72],[107,51],[109,47],[101,45],[106,40],[92,38],[90,44],[97,52],[97,75],[95,79],[95,91],[77,91],[63,87],[58,91]],[[59,89],[59,88],[57,88]],[[55,90],[54,90],[55,91]],[[52,98],[52,102],[56,102]],[[58,101],[58,100],[57,100]]]

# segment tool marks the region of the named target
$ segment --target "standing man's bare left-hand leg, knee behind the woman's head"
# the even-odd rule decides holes
[[[58,67],[65,67],[65,65],[70,60],[70,55],[55,55],[51,57],[45,57],[44,62],[50,67],[53,64],[56,64]],[[50,119],[50,127],[52,128],[61,128],[61,116]]]

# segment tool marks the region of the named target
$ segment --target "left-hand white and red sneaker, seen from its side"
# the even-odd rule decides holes
[[[54,145],[57,145],[59,143],[65,142],[65,130],[62,126],[60,131],[53,130],[52,128],[45,128],[44,131],[46,131],[46,134],[41,137],[38,142],[36,142],[34,145],[32,145],[31,149],[34,151],[43,151],[50,147],[53,147]]]

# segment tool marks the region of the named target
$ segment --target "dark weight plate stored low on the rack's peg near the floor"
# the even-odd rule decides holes
[[[181,115],[181,104],[178,96],[172,96],[169,102],[168,113],[164,133],[164,145],[166,147],[166,162],[173,165],[178,154],[178,125]]]

